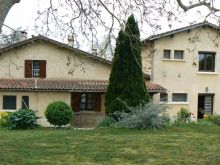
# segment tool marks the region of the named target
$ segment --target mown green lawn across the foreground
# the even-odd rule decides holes
[[[0,129],[0,164],[220,164],[220,127]]]

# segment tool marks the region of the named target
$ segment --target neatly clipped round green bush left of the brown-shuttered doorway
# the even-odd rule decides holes
[[[55,101],[45,111],[47,121],[55,126],[70,124],[73,118],[71,107],[63,101]]]

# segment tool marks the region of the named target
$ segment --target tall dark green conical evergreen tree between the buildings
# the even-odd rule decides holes
[[[149,101],[142,72],[140,32],[134,15],[128,18],[125,30],[119,32],[105,99],[109,114],[129,111],[128,107]]]

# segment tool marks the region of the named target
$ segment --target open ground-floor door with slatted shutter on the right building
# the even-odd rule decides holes
[[[198,119],[202,119],[204,115],[213,114],[213,98],[214,94],[198,95]]]

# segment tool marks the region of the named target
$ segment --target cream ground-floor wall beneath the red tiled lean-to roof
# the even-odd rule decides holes
[[[0,112],[14,112],[15,110],[3,109],[3,96],[16,96],[17,110],[21,108],[22,96],[29,96],[29,108],[34,110],[37,116],[40,117],[38,123],[42,126],[50,125],[44,112],[49,103],[53,101],[64,101],[70,105],[71,93],[70,92],[0,92]],[[94,127],[105,116],[105,97],[101,97],[101,112],[79,112],[74,114],[73,123],[75,126]]]

